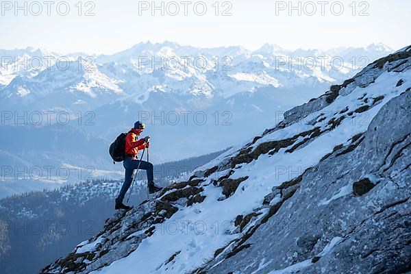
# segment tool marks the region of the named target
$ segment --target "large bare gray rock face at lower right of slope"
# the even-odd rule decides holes
[[[384,105],[356,149],[305,173],[295,195],[245,241],[249,247],[210,263],[208,273],[269,273],[305,260],[316,262],[301,273],[409,270],[410,114],[410,91]],[[369,192],[332,199],[345,186],[352,192],[364,178],[376,184]],[[332,239],[338,245],[322,255]]]

